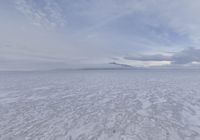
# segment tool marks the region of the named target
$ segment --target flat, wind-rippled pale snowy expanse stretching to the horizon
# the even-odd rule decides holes
[[[200,140],[200,71],[0,72],[1,140]]]

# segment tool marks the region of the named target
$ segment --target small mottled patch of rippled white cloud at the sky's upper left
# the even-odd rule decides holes
[[[32,20],[32,23],[45,28],[60,27],[66,24],[59,4],[53,0],[16,0],[16,8]]]

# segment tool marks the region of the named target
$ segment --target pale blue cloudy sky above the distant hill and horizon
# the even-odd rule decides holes
[[[0,70],[200,64],[199,0],[1,0]]]

